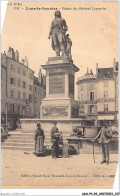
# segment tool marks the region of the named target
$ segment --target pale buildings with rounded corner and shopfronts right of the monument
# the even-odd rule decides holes
[[[98,68],[78,78],[79,116],[95,119],[96,125],[103,120],[118,120],[118,62],[111,68]]]

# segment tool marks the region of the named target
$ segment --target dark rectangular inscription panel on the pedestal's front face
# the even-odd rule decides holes
[[[49,75],[49,94],[63,94],[65,92],[65,73],[51,73]]]

